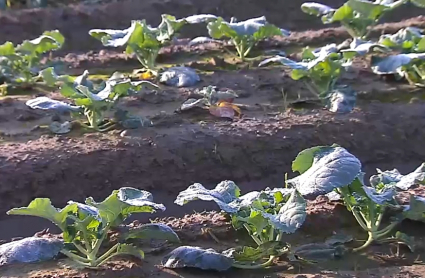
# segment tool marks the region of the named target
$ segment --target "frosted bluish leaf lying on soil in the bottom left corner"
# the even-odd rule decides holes
[[[63,248],[54,238],[28,237],[0,245],[0,266],[12,263],[34,263],[53,259]]]

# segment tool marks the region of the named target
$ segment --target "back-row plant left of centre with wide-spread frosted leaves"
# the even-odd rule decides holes
[[[156,58],[162,46],[169,44],[186,24],[208,22],[213,15],[194,15],[182,19],[163,14],[158,27],[149,26],[145,20],[133,20],[124,30],[93,29],[89,34],[104,46],[125,46],[125,53],[134,54],[145,70],[158,75]]]

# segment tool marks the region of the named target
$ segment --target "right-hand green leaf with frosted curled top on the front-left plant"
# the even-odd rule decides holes
[[[133,213],[153,213],[156,210],[165,210],[164,205],[153,202],[153,196],[150,192],[132,187],[114,190],[101,203],[96,203],[92,197],[89,197],[86,199],[86,204],[98,208],[102,219],[113,226],[121,224]]]

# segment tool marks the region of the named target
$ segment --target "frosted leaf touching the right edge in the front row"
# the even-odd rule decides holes
[[[370,177],[370,184],[376,187],[378,184],[395,185],[400,190],[408,190],[415,184],[425,183],[425,163],[422,163],[415,171],[402,175],[397,169],[378,171],[377,175]]]

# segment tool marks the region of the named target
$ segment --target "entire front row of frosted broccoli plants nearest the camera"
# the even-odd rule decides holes
[[[299,175],[286,179],[284,188],[266,188],[242,195],[232,181],[223,181],[212,190],[195,183],[180,192],[175,203],[184,205],[194,200],[215,202],[229,216],[234,229],[246,230],[253,240],[252,244],[223,252],[180,246],[166,255],[162,263],[168,268],[196,267],[224,271],[231,267],[265,268],[282,256],[291,261],[306,261],[309,254],[320,252],[344,256],[347,252],[360,252],[376,242],[397,242],[414,251],[412,239],[395,230],[404,219],[425,221],[425,198],[410,194],[409,202],[401,203],[397,196],[425,183],[425,163],[407,175],[401,175],[396,169],[378,170],[378,174],[370,178],[369,185],[364,182],[365,173],[361,168],[361,162],[346,149],[338,145],[317,146],[298,154],[292,170]],[[342,237],[324,244],[301,246],[291,246],[283,241],[285,234],[296,232],[306,221],[307,200],[319,195],[327,195],[329,199],[343,203],[352,212],[367,235],[363,244],[347,245],[350,239]],[[48,198],[36,198],[28,207],[12,209],[8,214],[42,217],[60,228],[63,241],[58,248],[47,248],[50,253],[44,258],[52,258],[60,252],[84,267],[98,268],[117,255],[143,258],[143,251],[132,244],[134,240],[179,243],[177,234],[165,224],[150,223],[132,228],[122,225],[132,214],[157,210],[163,211],[165,206],[155,203],[151,193],[125,187],[113,191],[102,202],[90,197],[85,203],[69,201],[67,206],[57,209]],[[391,217],[384,221],[386,215]],[[119,231],[118,240],[111,242],[110,231]],[[54,244],[58,246],[58,242]],[[22,254],[17,257],[26,262],[29,261],[28,254],[42,254],[25,249],[20,252]]]

